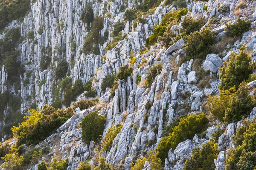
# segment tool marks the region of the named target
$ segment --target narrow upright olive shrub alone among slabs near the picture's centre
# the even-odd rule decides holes
[[[145,79],[145,88],[151,88],[151,84],[154,82],[157,75],[161,73],[162,69],[162,63],[158,63],[149,68]]]

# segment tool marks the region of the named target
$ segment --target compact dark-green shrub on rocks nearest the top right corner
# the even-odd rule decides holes
[[[227,34],[231,37],[239,36],[241,37],[242,34],[246,31],[250,30],[251,22],[247,20],[241,20],[240,18],[237,19],[236,24],[226,24],[227,26]]]

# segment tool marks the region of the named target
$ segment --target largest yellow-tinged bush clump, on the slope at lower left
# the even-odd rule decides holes
[[[31,115],[25,116],[24,122],[11,128],[17,145],[38,144],[74,114],[71,108],[56,110],[48,105],[45,105],[41,112],[29,110],[29,113]]]

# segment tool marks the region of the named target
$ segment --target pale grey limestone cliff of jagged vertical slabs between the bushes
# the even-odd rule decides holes
[[[99,55],[81,52],[84,37],[89,32],[87,31],[87,23],[82,23],[80,16],[82,9],[88,3],[92,3],[94,16],[99,15],[104,18],[103,29],[99,31],[100,36],[103,37],[105,32],[108,32],[105,43],[99,44]],[[130,164],[134,159],[157,147],[162,138],[164,126],[170,125],[181,115],[203,111],[207,97],[219,93],[218,68],[223,65],[224,60],[228,60],[230,51],[238,53],[239,48],[246,44],[246,47],[252,51],[252,57],[255,60],[256,3],[247,2],[247,14],[242,13],[240,16],[232,12],[233,8],[239,3],[237,0],[209,0],[208,2],[199,0],[197,3],[191,0],[191,2],[186,3],[187,7],[191,9],[187,16],[203,15],[207,23],[210,22],[210,19],[216,17],[226,17],[230,22],[235,22],[238,17],[241,17],[252,22],[250,31],[244,33],[241,39],[237,40],[231,48],[222,51],[223,58],[216,54],[208,54],[206,59],[200,63],[200,68],[210,72],[207,79],[209,81],[207,88],[202,88],[196,84],[199,79],[195,70],[194,59],[179,63],[182,56],[186,55],[182,39],[175,42],[168,49],[159,44],[151,46],[146,53],[139,54],[140,49],[145,48],[146,39],[153,33],[155,26],[161,23],[163,16],[169,11],[178,10],[174,5],[166,6],[161,3],[160,6],[154,8],[151,14],[143,16],[145,23],[138,22],[136,27],[133,23],[127,21],[125,29],[121,31],[125,38],[119,41],[114,48],[106,51],[107,43],[113,40],[113,37],[111,37],[113,26],[118,21],[124,20],[124,12],[120,8],[122,6],[134,8],[139,3],[132,0],[128,0],[128,2],[122,0],[115,0],[114,2],[108,0],[102,2],[41,0],[31,3],[31,11],[26,15],[23,22],[13,21],[7,27],[20,26],[20,33],[25,37],[17,47],[20,51],[18,60],[24,65],[25,71],[23,75],[20,75],[20,89],[15,89],[14,86],[8,85],[8,74],[3,65],[0,90],[2,93],[8,91],[20,95],[22,101],[20,111],[23,114],[27,114],[27,109],[32,103],[35,103],[39,109],[45,104],[51,105],[55,97],[54,91],[61,81],[55,75],[55,68],[57,68],[60,60],[67,61],[67,77],[71,77],[72,82],[81,79],[85,83],[93,79],[92,85],[96,90],[96,96],[99,97],[99,105],[101,105],[99,113],[107,118],[103,136],[109,127],[123,125],[121,132],[115,137],[111,149],[102,153],[102,156],[113,166],[121,161],[125,169],[130,169]],[[218,11],[221,4],[230,7],[231,12],[221,14]],[[207,10],[204,9],[206,5]],[[108,13],[110,16],[106,15]],[[225,35],[225,23],[227,22],[213,24],[212,32],[217,31],[216,39]],[[180,27],[181,24],[176,25],[172,30],[177,31],[175,28]],[[29,31],[34,34],[32,40],[26,38]],[[1,37],[4,37],[4,33],[0,35]],[[118,88],[113,97],[108,90],[102,93],[101,83],[103,78],[108,74],[118,72],[120,66],[128,64],[131,54],[136,56],[136,62],[131,65],[134,68],[132,77],[128,77],[127,81],[119,80]],[[50,57],[49,67],[45,70],[40,68],[40,61],[43,56]],[[143,62],[143,60],[146,60],[146,62]],[[144,82],[149,69],[158,63],[162,63],[163,69],[154,79],[151,87],[146,88],[143,83],[138,83],[137,77],[140,76],[140,82]],[[76,101],[83,98],[85,96],[81,94],[76,97]],[[63,96],[61,96],[61,99],[63,99]],[[151,104],[149,108],[148,103]],[[65,108],[65,106],[63,105],[62,108]],[[57,133],[49,136],[39,146],[43,144],[49,146],[51,154],[59,154],[62,159],[69,157],[68,169],[76,169],[79,161],[88,160],[89,156],[94,154],[93,148],[95,146],[93,142],[90,146],[82,142],[81,127],[79,126],[84,116],[94,110],[96,110],[96,107],[89,108],[86,111],[80,111],[77,108],[76,114],[58,128]],[[8,114],[8,111],[5,114]],[[249,119],[252,120],[254,117],[255,108],[250,113]],[[166,118],[167,121],[164,122]],[[5,119],[3,119],[4,125]],[[231,136],[239,126],[239,123],[222,125],[222,128],[227,130],[218,139],[218,148],[221,152],[215,162],[216,169],[224,169],[224,151],[233,146]],[[192,140],[186,140],[178,144],[175,150],[169,150],[169,157],[165,161],[165,170],[181,170],[185,163],[184,160],[190,158],[192,150],[207,142],[210,134],[216,130],[215,125],[208,127],[206,139],[199,139],[195,135]],[[52,144],[54,141],[57,142]],[[91,164],[95,164],[94,159],[90,161]],[[38,164],[33,165],[30,169],[37,170]],[[145,164],[144,169],[149,170],[150,165]]]

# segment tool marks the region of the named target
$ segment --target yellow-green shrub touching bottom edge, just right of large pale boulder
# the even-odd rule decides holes
[[[215,170],[214,159],[218,157],[218,143],[210,140],[192,151],[191,159],[186,159],[183,170]]]

